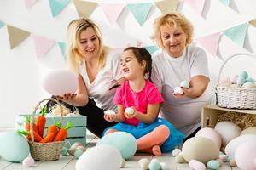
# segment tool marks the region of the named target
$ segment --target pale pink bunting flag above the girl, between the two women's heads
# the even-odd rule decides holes
[[[124,4],[100,4],[102,7],[103,12],[106,14],[110,24],[113,24],[118,18],[119,15],[122,13],[123,9],[125,8]]]

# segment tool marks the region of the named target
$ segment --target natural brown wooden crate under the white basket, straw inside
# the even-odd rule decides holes
[[[215,127],[218,122],[218,116],[228,111],[256,115],[256,110],[238,110],[222,108],[218,105],[205,105],[201,111],[201,127]]]

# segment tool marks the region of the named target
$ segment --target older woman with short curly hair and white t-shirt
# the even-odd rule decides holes
[[[200,128],[201,108],[211,100],[207,54],[190,45],[192,36],[193,26],[183,14],[165,14],[154,21],[154,40],[161,50],[153,57],[152,81],[165,100],[160,113],[187,138]],[[183,81],[190,87],[174,94]]]

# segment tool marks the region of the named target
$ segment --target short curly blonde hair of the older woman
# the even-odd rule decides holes
[[[191,22],[186,19],[183,14],[172,12],[169,14],[164,14],[160,16],[159,18],[154,20],[154,42],[157,43],[157,45],[160,48],[164,48],[163,42],[160,36],[160,26],[180,26],[185,34],[187,35],[186,39],[186,45],[192,42],[193,40],[193,31],[194,28],[191,24]]]

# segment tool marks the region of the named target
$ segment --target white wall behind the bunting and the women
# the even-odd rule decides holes
[[[102,0],[102,2],[106,1]],[[127,0],[123,2],[129,3]],[[143,0],[143,2],[147,2],[147,0]],[[221,32],[256,18],[255,0],[230,0],[230,2],[233,9],[224,7],[218,0],[206,0],[202,17],[195,14],[183,1],[180,2],[178,10],[183,12],[194,24],[195,37]],[[113,47],[125,47],[128,43],[136,45],[137,40],[143,41],[144,45],[152,45],[149,38],[152,35],[152,23],[154,18],[160,14],[160,10],[153,6],[145,24],[139,26],[131,12],[125,8],[117,23],[110,26],[102,8],[98,6],[90,18],[101,27],[106,44]],[[25,3],[21,0],[0,0],[0,20],[4,23],[58,42],[66,42],[67,25],[70,20],[77,17],[78,14],[72,1],[61,11],[61,14],[53,18],[46,0],[38,0],[29,9],[26,9]],[[228,37],[223,36],[219,42],[218,56],[227,59],[230,54],[241,52],[256,54],[255,37],[256,28],[248,26],[245,45],[251,49],[247,51],[247,49],[237,46]],[[215,84],[218,70],[223,64],[223,60],[218,56],[209,54],[212,86]],[[256,78],[255,66],[253,66],[255,62],[255,59],[238,57],[238,59],[230,61],[231,64],[224,72],[228,72],[230,75],[246,70]],[[6,26],[0,28],[0,115],[2,116],[0,127],[14,127],[15,115],[31,113],[40,99],[49,96],[41,86],[44,76],[53,69],[65,66],[65,60],[57,45],[51,48],[44,57],[38,59],[32,36],[10,50],[7,28]],[[239,68],[240,66],[241,68]],[[235,70],[233,73],[230,72],[232,67]]]

